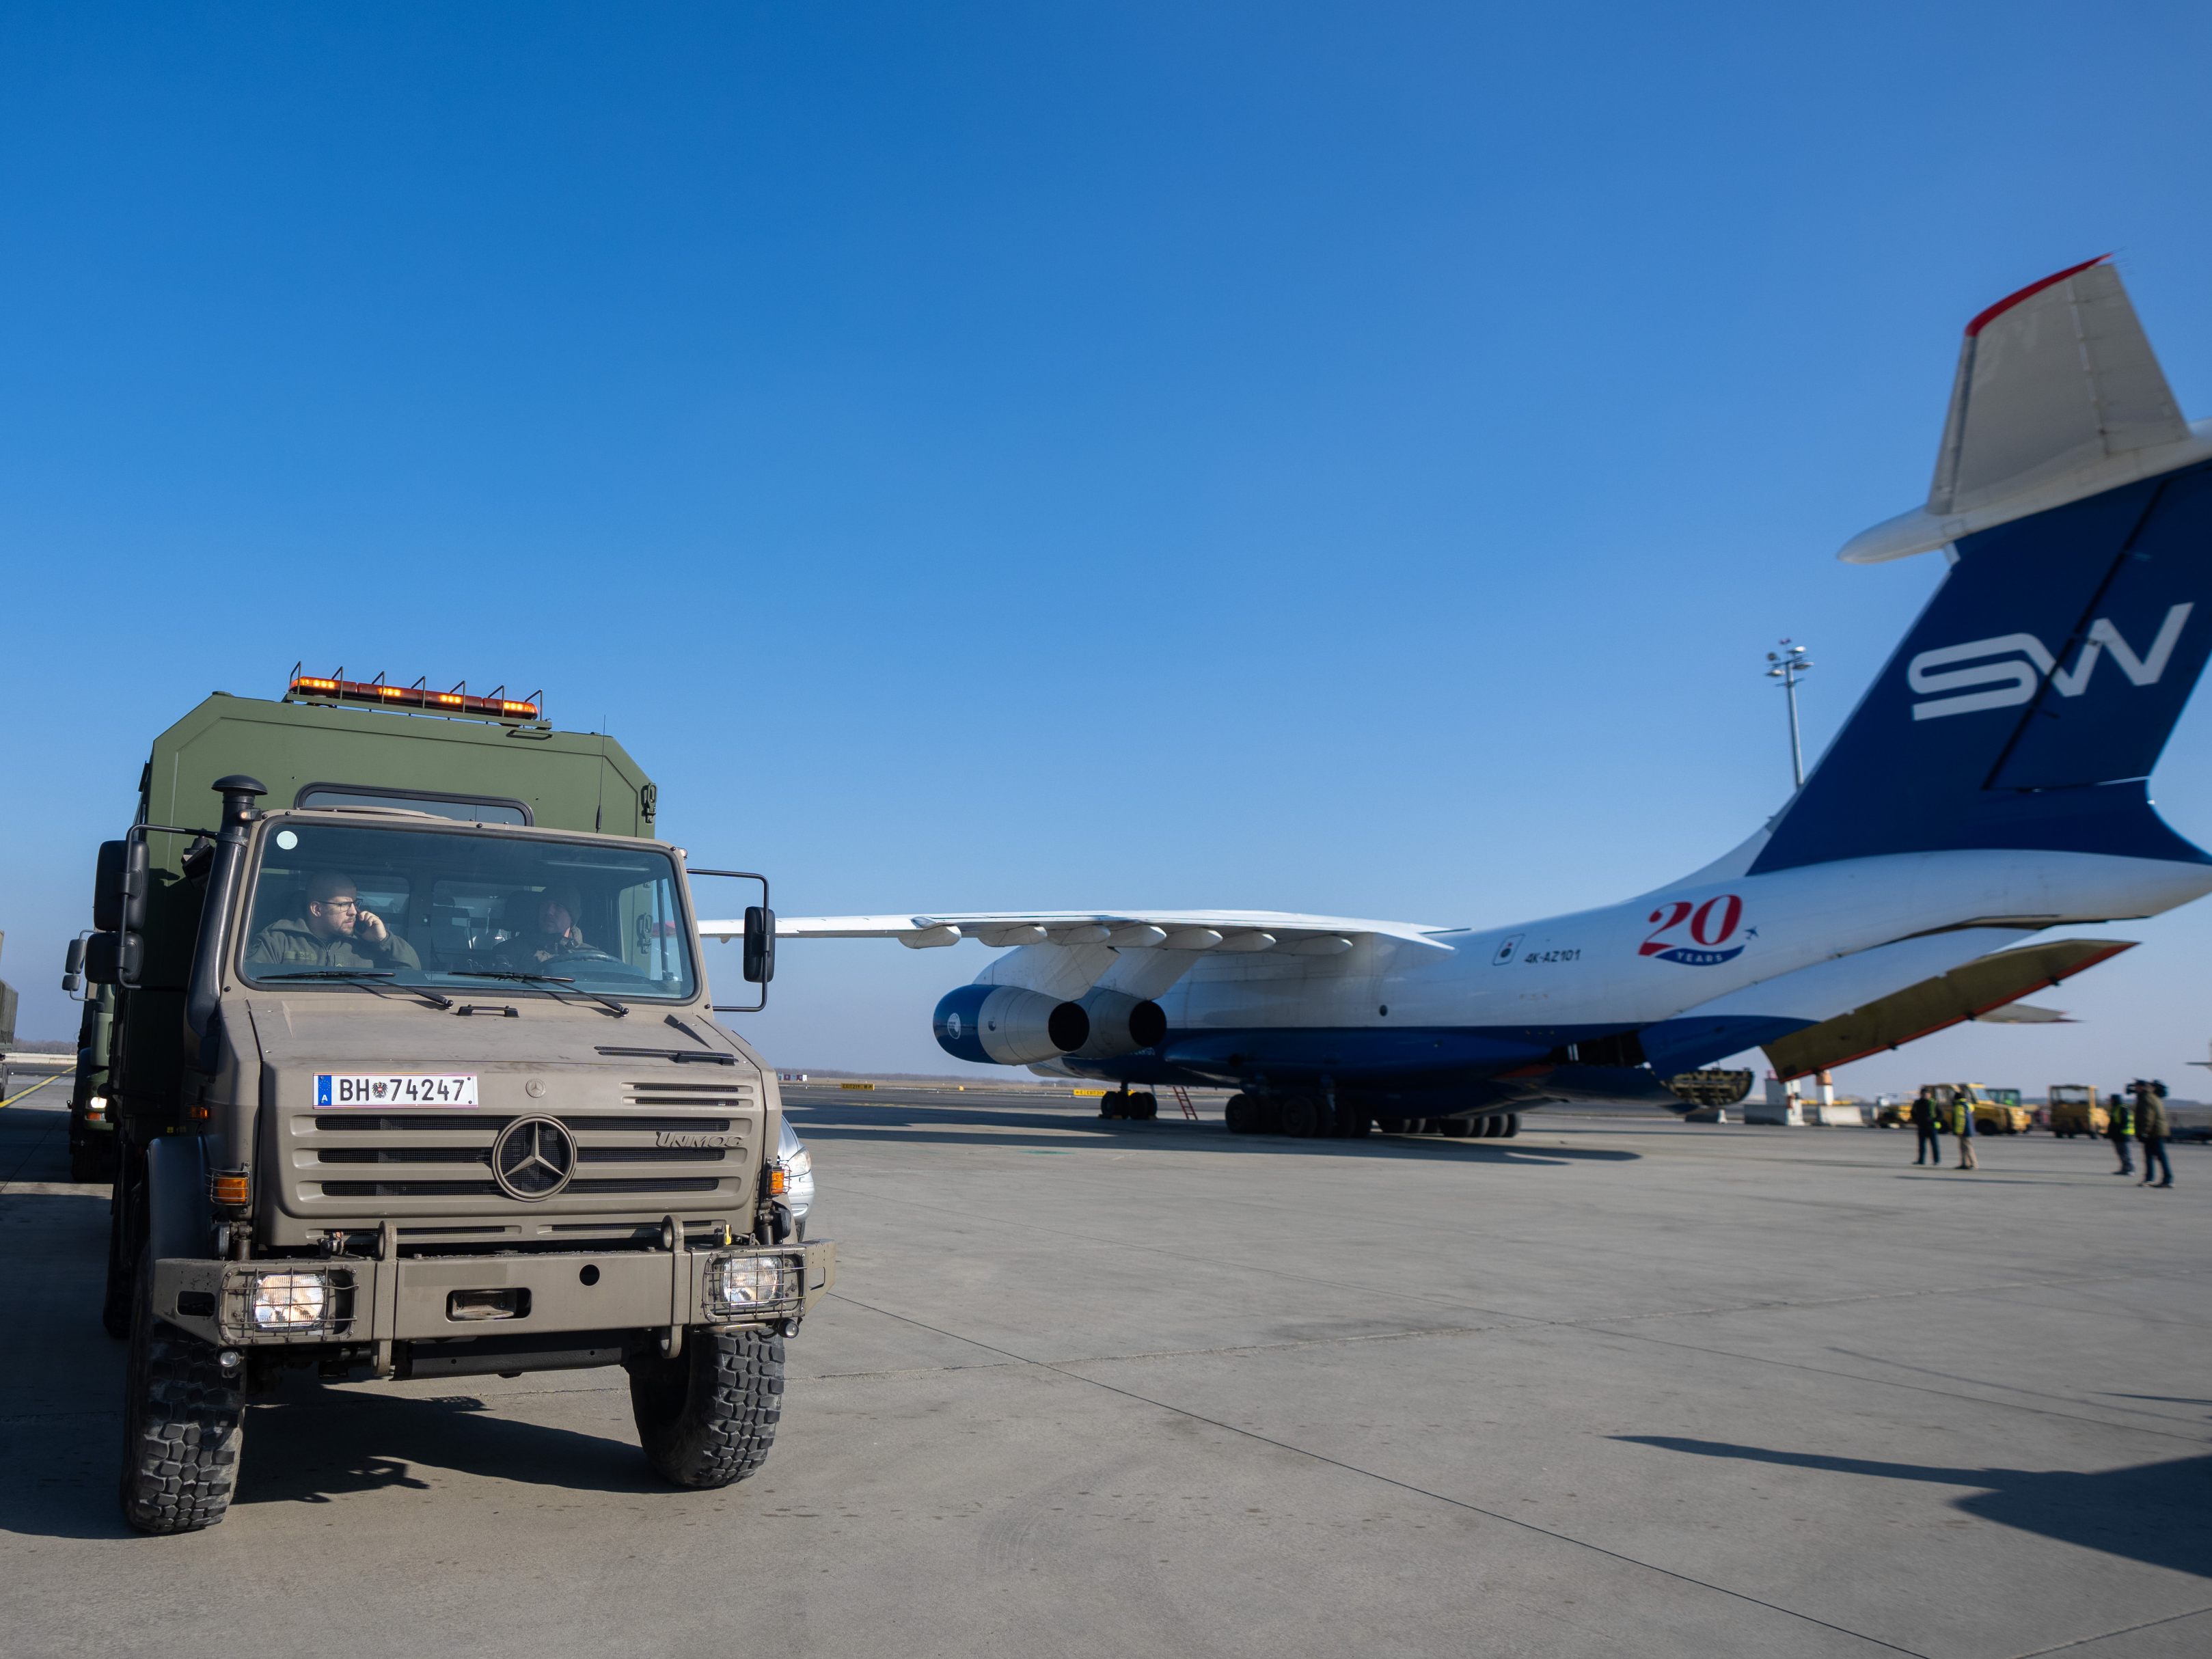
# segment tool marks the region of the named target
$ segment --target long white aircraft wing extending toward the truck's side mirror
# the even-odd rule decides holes
[[[743,922],[699,922],[701,938],[739,938]],[[1451,947],[1449,929],[1376,922],[1354,916],[1298,916],[1274,909],[1040,909],[918,916],[779,916],[776,938],[896,938],[925,951],[964,938],[1011,945],[1110,945],[1117,951],[1221,951],[1239,956],[1338,956],[1360,938],[1387,938],[1429,951]]]

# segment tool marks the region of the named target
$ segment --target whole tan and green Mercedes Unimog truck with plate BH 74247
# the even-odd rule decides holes
[[[622,1365],[677,1486],[768,1455],[834,1245],[781,1201],[776,1073],[714,1015],[619,743],[538,699],[294,675],[153,743],[100,849],[80,1095],[113,1135],[122,1509],[223,1517],[246,1400]],[[774,971],[768,883],[743,975]]]

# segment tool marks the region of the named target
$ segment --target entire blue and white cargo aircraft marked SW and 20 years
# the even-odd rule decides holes
[[[1619,905],[1493,929],[1159,909],[776,933],[1000,947],[938,1004],[947,1053],[1117,1082],[1124,1106],[1232,1086],[1239,1130],[1498,1133],[1546,1102],[1681,1104],[1670,1077],[1754,1046],[1803,1077],[1911,1042],[2128,949],[2048,929],[2212,891],[2146,787],[2212,650],[2212,420],[2181,418],[2104,259],[1966,325],[1927,504],[1843,557],[1938,549],[1942,586],[1790,803]]]

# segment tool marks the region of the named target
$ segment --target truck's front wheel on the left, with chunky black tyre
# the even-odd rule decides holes
[[[124,1520],[142,1533],[197,1533],[230,1509],[239,1473],[243,1369],[223,1376],[217,1349],[153,1316],[153,1263],[131,1296],[124,1380]]]

